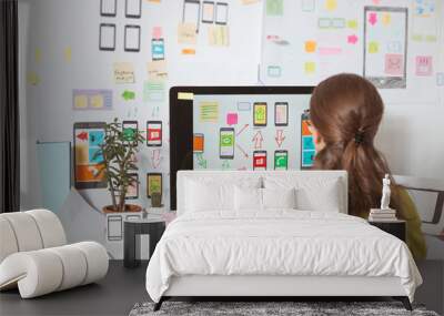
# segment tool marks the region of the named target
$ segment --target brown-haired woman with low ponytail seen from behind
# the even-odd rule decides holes
[[[314,169],[346,170],[349,214],[367,218],[379,208],[382,179],[391,174],[383,155],[374,147],[384,104],[376,88],[355,74],[337,74],[321,82],[310,102],[316,156]],[[426,246],[421,218],[408,193],[394,180],[390,206],[406,221],[406,242],[415,258],[424,258]]]

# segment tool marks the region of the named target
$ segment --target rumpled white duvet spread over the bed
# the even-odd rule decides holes
[[[159,302],[183,275],[397,276],[412,302],[422,284],[398,238],[355,216],[294,210],[178,217],[151,257],[147,290]]]

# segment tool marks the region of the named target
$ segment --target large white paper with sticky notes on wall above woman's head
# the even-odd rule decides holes
[[[260,77],[264,84],[316,85],[363,75],[391,103],[436,103],[436,0],[265,0]]]

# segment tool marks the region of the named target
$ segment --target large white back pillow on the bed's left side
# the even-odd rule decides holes
[[[185,212],[234,210],[234,186],[260,187],[261,179],[240,179],[234,185],[211,177],[189,179],[185,182]]]

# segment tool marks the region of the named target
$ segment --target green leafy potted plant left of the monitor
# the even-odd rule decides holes
[[[103,159],[102,172],[108,182],[111,193],[112,205],[102,208],[104,213],[110,212],[140,212],[141,206],[127,204],[128,187],[138,182],[134,176],[138,167],[135,165],[135,153],[139,144],[144,137],[138,129],[122,129],[122,124],[115,118],[104,129],[104,140],[100,145],[100,154]]]

